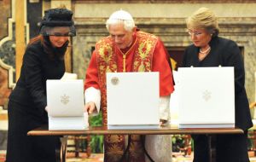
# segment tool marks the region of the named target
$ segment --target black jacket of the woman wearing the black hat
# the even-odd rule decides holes
[[[23,105],[22,111],[45,116],[46,80],[60,79],[64,72],[64,60],[50,58],[40,41],[29,45],[23,56],[20,78],[9,100]]]

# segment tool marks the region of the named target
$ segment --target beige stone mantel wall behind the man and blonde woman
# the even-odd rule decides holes
[[[171,2],[171,1],[170,1]],[[188,2],[188,1],[187,1]],[[193,1],[189,1],[193,2]],[[207,2],[207,1],[205,1]],[[213,1],[214,2],[214,1]],[[256,1],[251,3],[93,3],[73,1],[78,36],[73,38],[73,72],[84,78],[90,61],[90,50],[97,40],[108,35],[105,21],[113,11],[124,9],[135,18],[143,31],[159,36],[166,46],[185,48],[191,42],[184,20],[200,7],[212,9],[219,17],[220,35],[236,41],[244,48],[246,89],[250,101],[254,100],[254,72],[256,71]],[[235,1],[239,2],[239,1]],[[172,55],[172,54],[171,54]]]

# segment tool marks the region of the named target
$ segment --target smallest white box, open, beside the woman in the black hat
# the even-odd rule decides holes
[[[88,127],[83,80],[47,80],[46,91],[49,130],[84,130]]]

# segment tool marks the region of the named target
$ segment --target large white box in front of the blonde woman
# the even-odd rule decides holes
[[[178,68],[179,128],[234,128],[234,67]]]

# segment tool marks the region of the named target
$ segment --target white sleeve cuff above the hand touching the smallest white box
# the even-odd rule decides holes
[[[101,107],[101,91],[94,87],[90,87],[84,91],[85,104],[93,101],[96,105],[97,113],[100,112]]]

